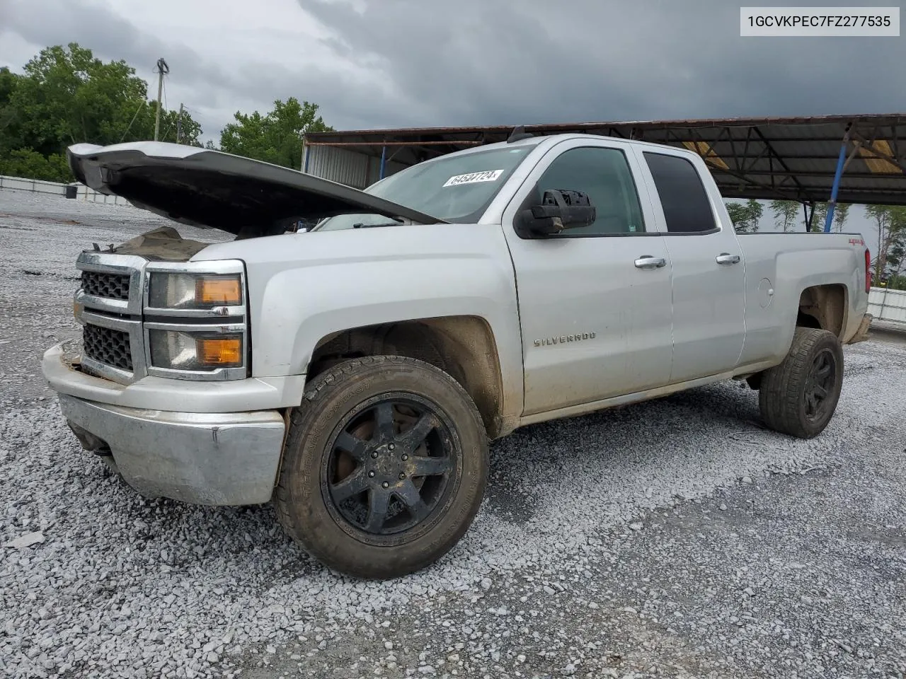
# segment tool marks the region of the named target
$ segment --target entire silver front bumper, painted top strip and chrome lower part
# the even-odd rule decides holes
[[[285,431],[277,408],[300,402],[304,376],[149,376],[126,386],[86,375],[77,363],[76,351],[52,347],[44,353],[44,378],[82,446],[112,456],[136,491],[207,505],[271,499]]]

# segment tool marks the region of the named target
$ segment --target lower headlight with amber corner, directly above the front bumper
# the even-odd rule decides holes
[[[169,370],[211,371],[241,368],[243,333],[149,330],[151,366]]]

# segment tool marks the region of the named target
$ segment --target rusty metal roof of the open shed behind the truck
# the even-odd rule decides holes
[[[505,140],[512,126],[356,129],[305,135],[404,165]],[[843,139],[848,158],[838,201],[906,205],[906,113],[802,118],[634,120],[525,125],[535,135],[583,132],[698,151],[728,198],[830,198]]]

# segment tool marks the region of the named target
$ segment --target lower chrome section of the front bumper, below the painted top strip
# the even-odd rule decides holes
[[[271,499],[284,440],[274,410],[174,413],[64,394],[60,407],[82,445],[109,450],[126,483],[146,497],[208,505]]]

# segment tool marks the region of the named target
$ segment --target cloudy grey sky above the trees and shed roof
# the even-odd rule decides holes
[[[154,81],[164,57],[169,108],[184,103],[205,139],[289,96],[336,129],[906,110],[903,38],[742,38],[739,6],[0,0],[0,65],[74,41]]]

